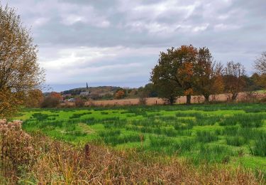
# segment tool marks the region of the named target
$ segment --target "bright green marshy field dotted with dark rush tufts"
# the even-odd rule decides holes
[[[266,105],[174,105],[23,110],[27,132],[266,172]]]

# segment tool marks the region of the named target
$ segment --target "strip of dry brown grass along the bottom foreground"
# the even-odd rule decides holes
[[[2,124],[4,125],[4,124]],[[21,132],[21,129],[17,130]],[[16,134],[16,133],[13,133]],[[1,140],[3,139],[1,134]],[[10,136],[12,137],[12,136]],[[14,137],[14,135],[13,135]],[[23,139],[23,143],[26,143]],[[16,140],[16,139],[15,139]],[[14,147],[18,142],[11,139]],[[27,139],[28,140],[28,139]],[[16,161],[16,169],[0,166],[1,184],[263,184],[263,177],[240,167],[200,166],[197,169],[176,157],[167,158],[153,153],[116,151],[109,147],[87,144],[74,147],[40,134],[31,137],[25,147],[37,154],[34,160]],[[0,142],[4,147],[5,142]],[[16,154],[27,150],[19,147]],[[11,153],[6,158],[16,157]],[[2,160],[1,160],[2,162]],[[31,164],[31,165],[30,165]],[[27,166],[24,168],[23,166]],[[22,169],[22,170],[21,170]],[[1,178],[4,176],[5,180]]]

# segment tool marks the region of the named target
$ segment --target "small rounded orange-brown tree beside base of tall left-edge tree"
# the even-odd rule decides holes
[[[24,100],[26,107],[40,107],[43,102],[43,92],[38,89],[29,90]]]

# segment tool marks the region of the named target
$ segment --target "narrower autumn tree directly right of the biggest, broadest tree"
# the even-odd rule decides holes
[[[199,48],[194,66],[194,91],[203,95],[205,102],[209,102],[210,95],[215,95],[223,91],[223,66],[215,63],[209,48]]]

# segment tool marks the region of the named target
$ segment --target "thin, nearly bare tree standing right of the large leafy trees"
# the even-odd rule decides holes
[[[244,75],[245,68],[242,64],[233,61],[226,63],[226,68],[223,70],[223,81],[230,100],[235,101],[238,93],[245,88]]]

